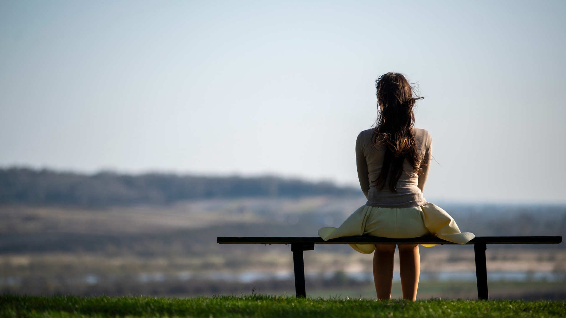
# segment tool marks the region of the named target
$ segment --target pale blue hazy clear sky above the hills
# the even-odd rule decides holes
[[[358,186],[405,74],[428,201],[565,202],[564,1],[2,1],[0,167]]]

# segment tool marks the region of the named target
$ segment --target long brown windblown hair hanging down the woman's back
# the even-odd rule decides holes
[[[413,106],[419,97],[415,94],[409,81],[399,73],[388,72],[375,81],[378,97],[378,119],[372,141],[375,146],[385,149],[383,167],[379,174],[377,186],[383,190],[385,186],[397,193],[397,182],[403,174],[403,162],[407,160],[413,171],[422,174],[421,157],[412,128],[415,124]]]

